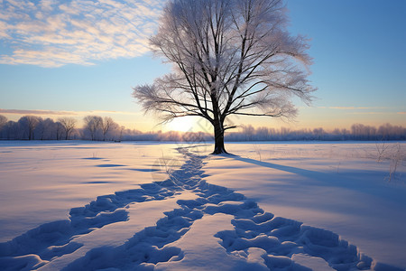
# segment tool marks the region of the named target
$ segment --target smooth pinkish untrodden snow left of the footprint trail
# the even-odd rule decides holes
[[[176,145],[0,142],[0,242],[64,220],[97,196],[163,181]]]

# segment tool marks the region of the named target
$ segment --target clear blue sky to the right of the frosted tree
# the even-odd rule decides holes
[[[288,7],[292,33],[312,39],[310,79],[318,87],[301,117],[316,126],[404,126],[406,1],[297,0]]]

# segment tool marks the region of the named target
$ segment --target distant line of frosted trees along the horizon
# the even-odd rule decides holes
[[[111,117],[87,116],[84,125],[77,126],[73,117],[51,118],[24,116],[18,121],[8,121],[0,115],[0,139],[3,140],[69,140],[93,141],[213,141],[211,131],[204,132],[147,132],[119,126]],[[344,140],[406,140],[406,127],[385,124],[379,127],[355,124],[348,129],[326,131],[323,128],[293,130],[242,126],[239,132],[226,133],[228,142],[235,141],[344,141]]]

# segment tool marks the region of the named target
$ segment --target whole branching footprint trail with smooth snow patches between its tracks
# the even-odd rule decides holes
[[[97,197],[1,243],[1,269],[400,270],[205,182],[204,156],[178,151],[187,160],[166,181]]]

